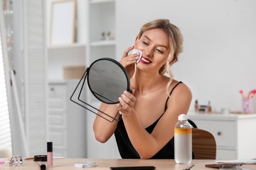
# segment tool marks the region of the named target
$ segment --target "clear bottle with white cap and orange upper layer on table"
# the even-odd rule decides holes
[[[192,161],[192,126],[186,114],[179,115],[178,119],[174,131],[175,161],[186,164]]]

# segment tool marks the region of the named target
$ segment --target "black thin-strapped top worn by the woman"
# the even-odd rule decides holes
[[[170,95],[173,92],[173,90],[177,87],[177,85],[180,83],[182,83],[182,82],[177,83],[173,87],[173,89],[170,92]],[[168,99],[169,99],[169,97],[167,97],[166,102],[165,102],[165,111],[167,110]],[[164,113],[165,112],[163,112],[163,114]],[[163,114],[161,116],[163,116]],[[160,116],[160,118],[161,118],[161,116]],[[152,124],[151,126],[146,127],[146,131],[148,131],[148,133],[152,133],[156,124],[158,124],[158,121],[160,120],[160,118],[158,118],[158,120],[156,120],[156,122],[154,122],[154,124]],[[119,154],[120,154],[121,158],[123,158],[123,159],[140,159],[138,152],[133,147],[133,144],[131,144],[131,141],[127,135],[125,125],[123,124],[123,119],[119,120],[114,134],[116,137],[116,143],[117,143],[117,147],[118,147]],[[165,144],[165,146],[163,146],[163,148],[161,148],[161,150],[158,153],[156,153],[150,159],[174,159],[174,139],[171,139],[167,144]]]

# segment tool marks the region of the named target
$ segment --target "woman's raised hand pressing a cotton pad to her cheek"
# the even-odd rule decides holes
[[[131,54],[128,56],[129,51],[133,50],[134,46],[131,46],[123,52],[123,56],[120,59],[119,63],[125,67],[126,71],[128,72],[130,78],[133,76],[135,71],[135,65],[137,59],[139,59],[140,54]]]

